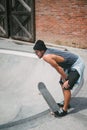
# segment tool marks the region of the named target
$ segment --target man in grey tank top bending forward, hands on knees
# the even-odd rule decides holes
[[[61,76],[59,83],[62,87],[64,103],[58,104],[62,107],[58,116],[65,116],[69,108],[71,89],[77,82],[80,83],[84,71],[84,63],[78,55],[69,51],[47,48],[42,40],[38,40],[33,49],[39,58],[43,58]]]

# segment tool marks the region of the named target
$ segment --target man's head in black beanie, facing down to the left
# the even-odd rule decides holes
[[[34,47],[33,47],[36,55],[39,57],[39,58],[42,58],[45,51],[47,50],[47,47],[46,45],[44,44],[44,42],[42,40],[38,40]]]

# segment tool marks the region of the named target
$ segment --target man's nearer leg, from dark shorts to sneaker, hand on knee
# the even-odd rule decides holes
[[[64,105],[62,107],[61,112],[59,113],[60,117],[65,116],[67,114],[67,109],[71,99],[71,89],[73,88],[74,84],[77,82],[79,76],[80,75],[77,72],[77,70],[71,70],[65,82],[62,82],[62,80],[59,81],[59,83],[62,86],[62,91],[64,94]]]

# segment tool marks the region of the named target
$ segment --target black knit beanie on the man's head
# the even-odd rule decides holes
[[[33,49],[34,49],[34,50],[40,50],[40,51],[42,51],[42,50],[46,51],[47,47],[46,47],[46,45],[44,44],[44,41],[38,40],[38,41],[35,43]]]

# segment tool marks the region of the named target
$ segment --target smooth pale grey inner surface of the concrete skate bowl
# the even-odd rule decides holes
[[[49,107],[37,85],[44,82],[56,102],[60,102],[63,96],[58,80],[56,70],[35,54],[0,50],[0,128],[46,114]]]

